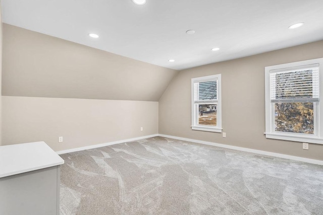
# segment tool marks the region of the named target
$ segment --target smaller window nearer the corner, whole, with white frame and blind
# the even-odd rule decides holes
[[[192,129],[222,132],[221,74],[192,79]]]

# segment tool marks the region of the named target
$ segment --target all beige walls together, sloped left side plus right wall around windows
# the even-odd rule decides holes
[[[263,134],[264,66],[322,57],[323,41],[178,73],[7,24],[3,33],[3,145],[43,140],[60,151],[155,134],[159,125],[162,134],[323,160],[322,145],[305,151]],[[190,128],[191,78],[213,74],[222,74],[227,138]]]

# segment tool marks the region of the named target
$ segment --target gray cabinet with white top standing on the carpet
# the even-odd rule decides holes
[[[51,154],[55,161],[48,162],[48,159],[42,157],[37,159],[33,157],[35,162],[33,164],[40,164],[36,170],[32,171],[20,171],[18,174],[9,174],[10,170],[4,167],[4,159],[1,158],[2,164],[0,164],[0,172],[2,176],[0,178],[0,214],[1,215],[56,215],[60,214],[60,164],[64,163],[64,160],[53,152],[47,145],[36,144],[30,145],[31,151],[36,150],[38,153]],[[0,156],[3,156],[6,150],[0,148]],[[24,146],[28,147],[28,146]],[[48,151],[48,148],[51,150]],[[16,148],[15,150],[17,150]],[[8,151],[6,151],[8,153]],[[50,152],[48,154],[48,152]],[[8,156],[5,156],[8,158]],[[28,157],[28,156],[27,156]],[[49,158],[49,157],[47,157]],[[10,159],[11,160],[11,159]],[[7,165],[10,165],[14,160],[6,161]],[[19,161],[21,166],[24,166],[23,161]],[[28,163],[28,162],[27,162]],[[19,165],[14,165],[12,169],[18,170]],[[27,165],[28,166],[28,165]],[[49,167],[46,167],[49,166]],[[26,165],[25,165],[26,167]],[[33,168],[32,168],[33,167]],[[1,170],[3,169],[3,171]],[[35,165],[29,165],[29,168],[25,170],[35,169]],[[14,171],[15,172],[15,171]],[[17,172],[17,171],[16,171]],[[6,176],[7,175],[7,176]]]

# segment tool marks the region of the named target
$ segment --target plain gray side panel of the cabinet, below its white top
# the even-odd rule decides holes
[[[0,179],[0,214],[58,214],[58,169],[41,170]]]

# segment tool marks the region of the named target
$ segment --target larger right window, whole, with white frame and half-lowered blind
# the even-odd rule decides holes
[[[323,58],[265,67],[266,137],[323,144]]]

